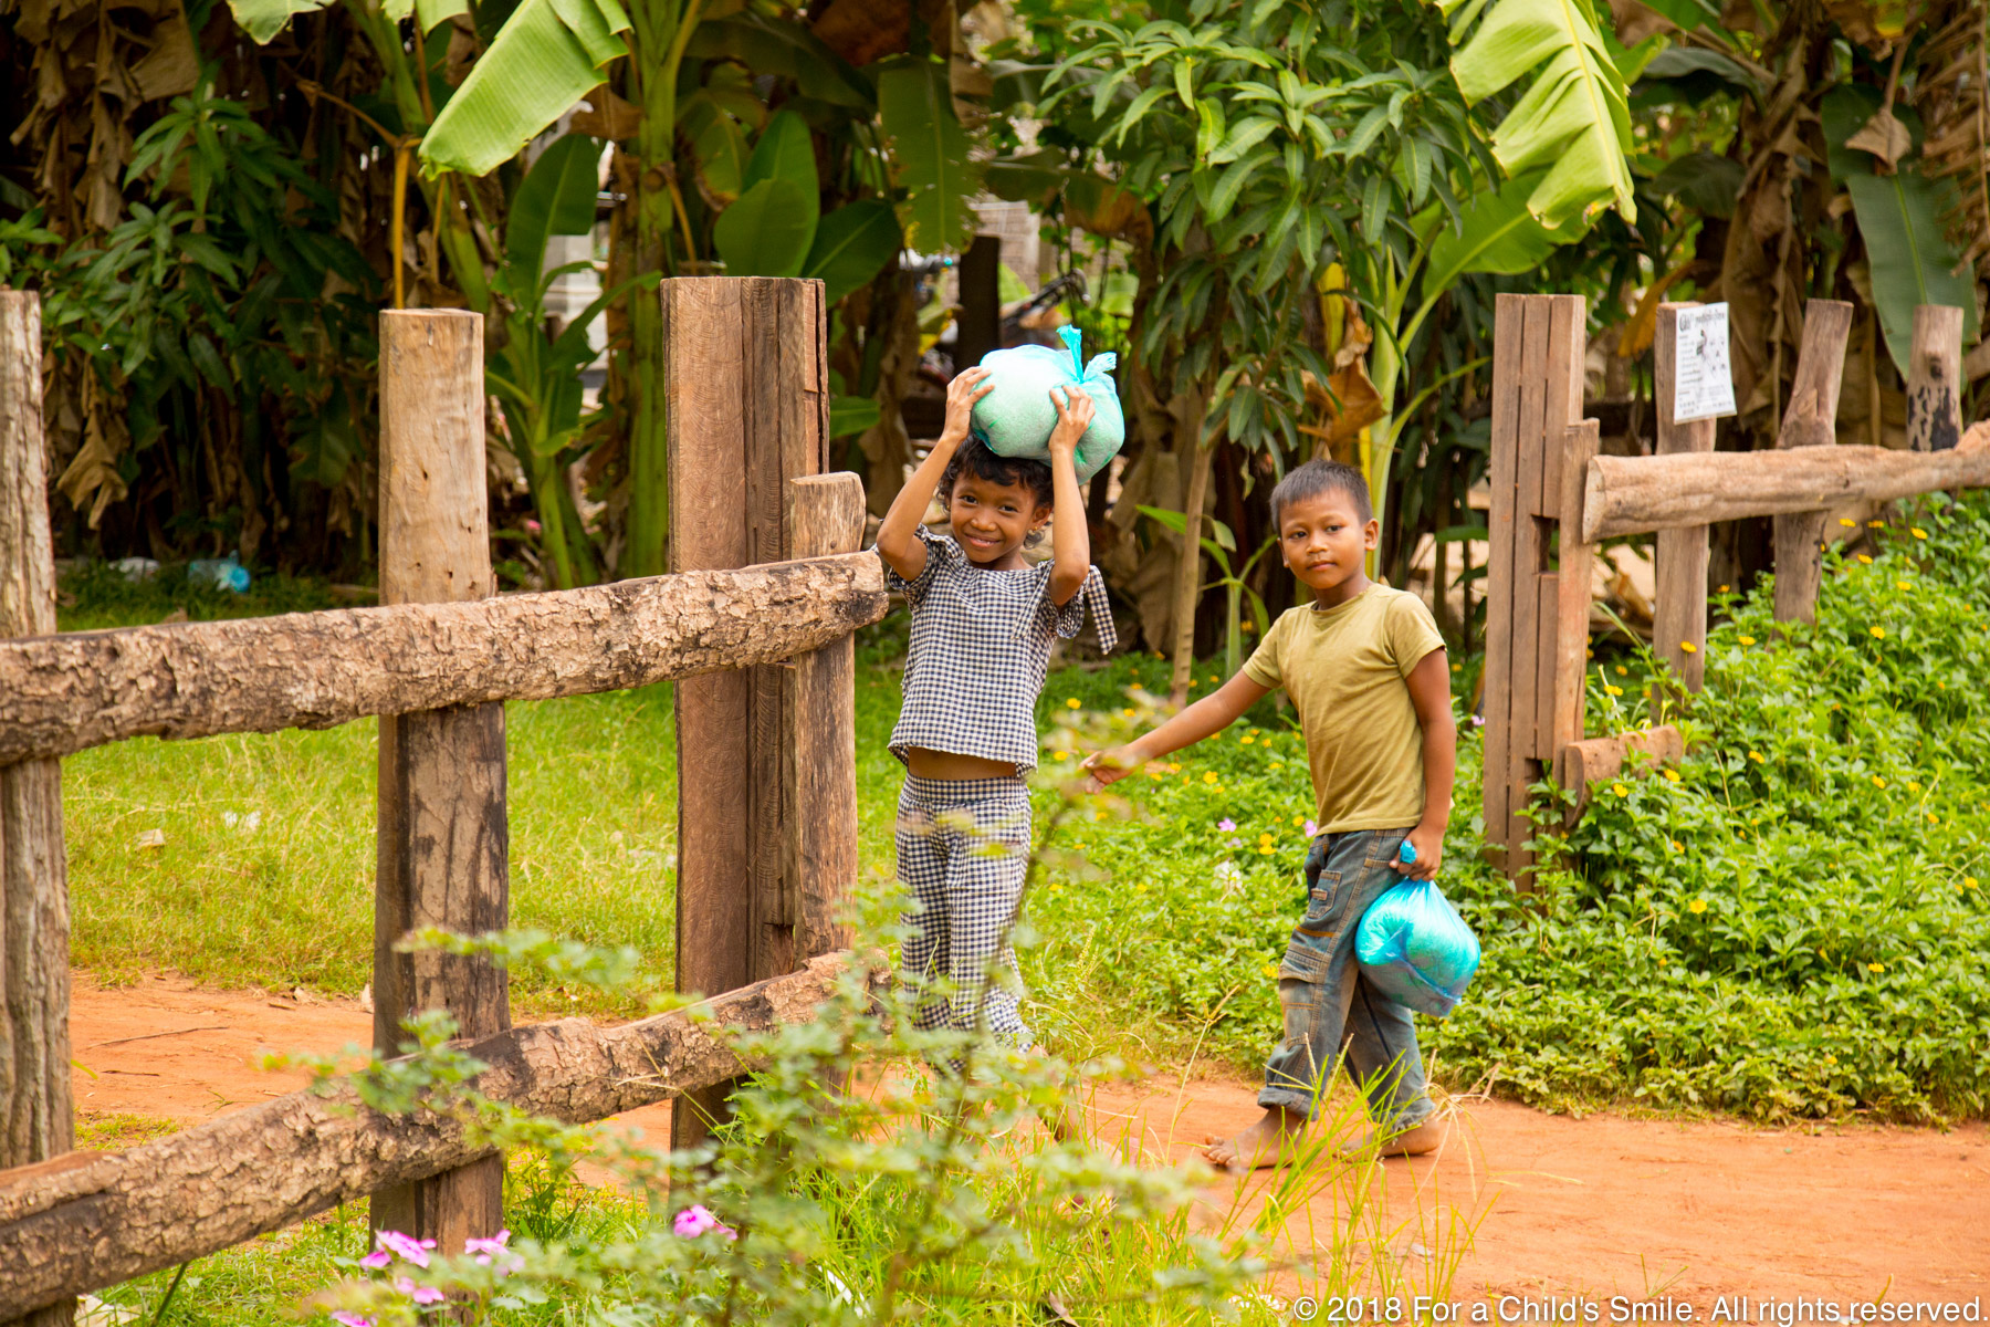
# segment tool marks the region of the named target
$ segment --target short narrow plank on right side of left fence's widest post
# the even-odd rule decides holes
[[[862,545],[864,481],[854,474],[790,481],[788,543],[808,555]],[[802,655],[788,678],[782,889],[800,961],[850,943],[840,909],[858,879],[856,641]]]

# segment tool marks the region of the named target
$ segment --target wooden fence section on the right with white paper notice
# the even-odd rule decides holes
[[[1580,812],[1588,786],[1682,754],[1670,724],[1584,738],[1590,569],[1604,539],[1658,533],[1652,645],[1688,692],[1707,643],[1707,527],[1775,517],[1775,617],[1813,621],[1825,511],[1990,487],[1990,426],[1962,430],[1962,310],[1914,314],[1906,432],[1914,450],[1833,446],[1851,304],[1809,300],[1773,452],[1715,452],[1713,420],[1674,418],[1680,312],[1660,304],[1654,456],[1598,456],[1582,414],[1586,308],[1576,294],[1500,294],[1492,340],[1492,509],[1485,659],[1485,836],[1514,879],[1532,867],[1528,786],[1552,768]]]

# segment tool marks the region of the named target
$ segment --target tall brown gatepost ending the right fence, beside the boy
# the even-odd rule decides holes
[[[1524,848],[1532,834],[1526,788],[1540,778],[1542,762],[1554,758],[1558,740],[1568,738],[1570,724],[1580,726],[1588,549],[1564,543],[1562,569],[1550,569],[1548,559],[1568,470],[1586,464],[1580,448],[1592,438],[1570,428],[1582,416],[1584,322],[1580,294],[1500,294],[1494,306],[1485,834],[1492,857],[1514,879],[1532,867]],[[1566,601],[1564,575],[1574,577]]]

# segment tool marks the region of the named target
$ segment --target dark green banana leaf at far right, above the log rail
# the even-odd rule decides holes
[[[1867,243],[1887,354],[1900,376],[1914,344],[1914,304],[1954,304],[1962,310],[1962,342],[1976,340],[1976,283],[1942,231],[1944,187],[1912,165],[1892,175],[1847,175],[1845,187]]]

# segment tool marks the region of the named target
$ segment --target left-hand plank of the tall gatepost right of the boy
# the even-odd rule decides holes
[[[1494,865],[1506,863],[1508,764],[1512,736],[1512,541],[1520,434],[1520,338],[1526,296],[1498,294],[1492,304],[1492,420],[1487,511],[1487,635],[1481,706],[1485,708],[1485,838]]]

